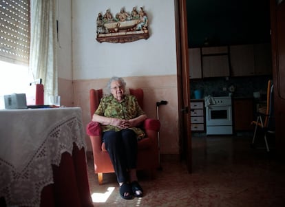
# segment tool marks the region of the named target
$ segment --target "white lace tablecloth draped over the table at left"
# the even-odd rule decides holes
[[[81,108],[0,110],[0,197],[6,204],[39,206],[53,183],[52,164],[86,149]]]

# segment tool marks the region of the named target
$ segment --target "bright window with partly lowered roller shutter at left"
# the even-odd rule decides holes
[[[30,0],[0,2],[0,109],[3,95],[29,94]]]

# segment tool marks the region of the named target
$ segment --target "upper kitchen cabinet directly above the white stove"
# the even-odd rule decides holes
[[[230,75],[227,46],[202,47],[202,74],[204,78]]]

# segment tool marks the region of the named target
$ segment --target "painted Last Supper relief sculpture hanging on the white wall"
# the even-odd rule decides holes
[[[115,16],[106,10],[105,14],[98,14],[96,25],[99,43],[128,43],[149,38],[149,20],[142,7],[139,10],[134,7],[131,12],[121,8]]]

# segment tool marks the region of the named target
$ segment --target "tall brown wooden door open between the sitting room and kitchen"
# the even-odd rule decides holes
[[[180,160],[185,160],[187,170],[192,172],[192,146],[190,123],[190,85],[188,62],[188,35],[186,1],[176,2],[176,45],[178,63],[178,110],[179,110],[179,138]]]

